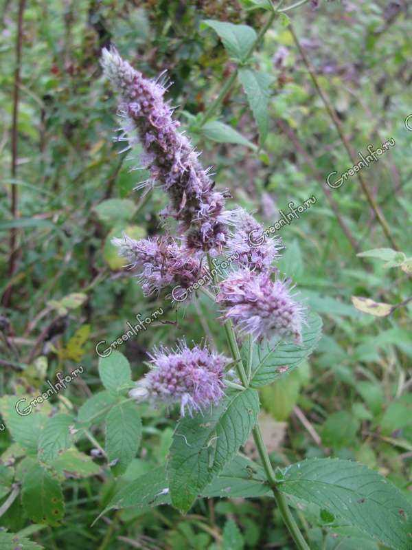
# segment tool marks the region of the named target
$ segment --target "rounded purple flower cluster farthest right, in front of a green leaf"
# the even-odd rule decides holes
[[[223,318],[258,340],[274,336],[301,343],[304,307],[293,300],[288,281],[271,281],[268,272],[248,269],[231,274],[219,285],[217,301]]]

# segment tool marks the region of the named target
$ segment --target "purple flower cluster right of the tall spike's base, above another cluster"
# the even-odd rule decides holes
[[[243,208],[233,211],[231,223],[236,231],[227,239],[227,250],[238,252],[236,263],[250,270],[269,270],[283,248],[280,237],[266,236],[262,225]]]

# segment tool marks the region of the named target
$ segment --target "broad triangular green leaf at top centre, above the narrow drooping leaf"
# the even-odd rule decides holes
[[[207,19],[202,23],[217,32],[229,56],[236,58],[238,61],[245,61],[256,40],[256,33],[253,28],[248,25],[233,25],[233,23],[224,23],[212,19]]]

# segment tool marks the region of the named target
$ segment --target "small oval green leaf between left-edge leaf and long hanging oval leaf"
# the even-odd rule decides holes
[[[73,436],[69,428],[73,424],[69,415],[56,415],[47,420],[38,438],[38,458],[41,461],[51,462],[71,446]]]

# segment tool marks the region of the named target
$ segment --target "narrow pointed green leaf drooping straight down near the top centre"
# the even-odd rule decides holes
[[[266,73],[244,68],[239,70],[239,80],[247,95],[256,124],[258,124],[260,144],[262,145],[268,135],[268,101],[273,78]]]

